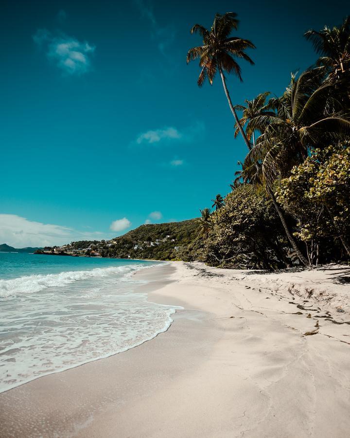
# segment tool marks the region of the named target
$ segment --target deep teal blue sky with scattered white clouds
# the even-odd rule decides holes
[[[198,88],[193,24],[238,13],[254,66],[234,104],[279,95],[316,55],[303,33],[345,1],[3,1],[0,243],[108,239],[210,207],[245,157],[220,77]]]

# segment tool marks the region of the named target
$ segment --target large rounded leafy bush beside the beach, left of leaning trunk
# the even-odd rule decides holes
[[[229,193],[225,206],[212,213],[210,222],[205,243],[194,242],[183,258],[242,269],[285,266],[285,239],[281,227],[276,227],[276,212],[271,201],[251,185]]]

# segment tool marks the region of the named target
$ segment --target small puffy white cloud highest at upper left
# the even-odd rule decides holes
[[[39,29],[33,37],[35,44],[43,48],[48,59],[64,73],[80,76],[91,69],[91,55],[95,46],[67,35],[55,37],[46,29]]]

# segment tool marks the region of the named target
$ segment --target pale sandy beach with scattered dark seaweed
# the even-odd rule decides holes
[[[349,267],[135,275],[171,327],[0,394],[1,438],[349,436]]]

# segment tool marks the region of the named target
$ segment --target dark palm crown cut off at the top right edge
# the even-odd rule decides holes
[[[325,26],[319,32],[310,29],[305,32],[316,53],[321,55],[316,65],[329,70],[333,77],[350,70],[350,16],[346,17],[339,27],[330,29]]]

